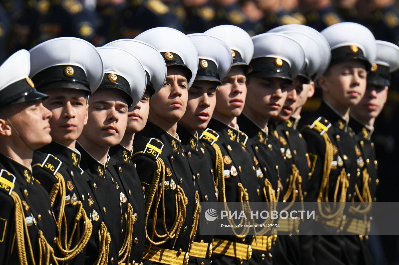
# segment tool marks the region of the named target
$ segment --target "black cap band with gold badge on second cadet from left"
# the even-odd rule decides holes
[[[85,71],[75,65],[51,66],[35,74],[32,80],[38,90],[61,88],[60,84],[68,84],[65,88],[91,91]]]

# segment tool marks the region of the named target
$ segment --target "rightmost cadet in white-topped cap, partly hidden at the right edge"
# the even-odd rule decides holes
[[[379,184],[375,157],[374,143],[371,134],[374,131],[374,122],[381,113],[387,101],[388,88],[391,86],[390,73],[399,68],[399,47],[386,41],[377,41],[377,57],[367,74],[366,93],[358,105],[350,110],[349,126],[355,133],[355,139],[360,145],[363,161],[368,173],[367,201],[376,201],[375,191]],[[363,178],[366,177],[363,174]]]

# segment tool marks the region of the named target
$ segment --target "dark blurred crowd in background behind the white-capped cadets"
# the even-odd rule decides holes
[[[160,26],[189,34],[232,24],[253,36],[284,24],[321,31],[352,21],[367,26],[375,39],[399,45],[398,6],[395,0],[0,0],[0,63],[15,51],[55,37],[79,37],[102,46]],[[399,201],[398,72],[391,83],[372,135],[381,180],[378,201]],[[318,108],[317,92],[305,105],[303,116]],[[377,264],[399,264],[398,237],[373,240],[381,243],[373,244],[381,247],[374,249]]]

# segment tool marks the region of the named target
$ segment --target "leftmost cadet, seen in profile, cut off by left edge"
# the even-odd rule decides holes
[[[51,112],[42,104],[30,72],[29,52],[0,66],[0,263],[55,261],[57,221],[48,193],[32,176],[34,150],[51,142]],[[60,256],[62,258],[62,256]]]

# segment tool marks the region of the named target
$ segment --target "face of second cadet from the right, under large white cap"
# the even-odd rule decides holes
[[[366,90],[367,72],[363,63],[352,60],[334,64],[320,77],[319,84],[330,100],[344,107],[358,104]],[[325,82],[324,82],[325,81]]]

